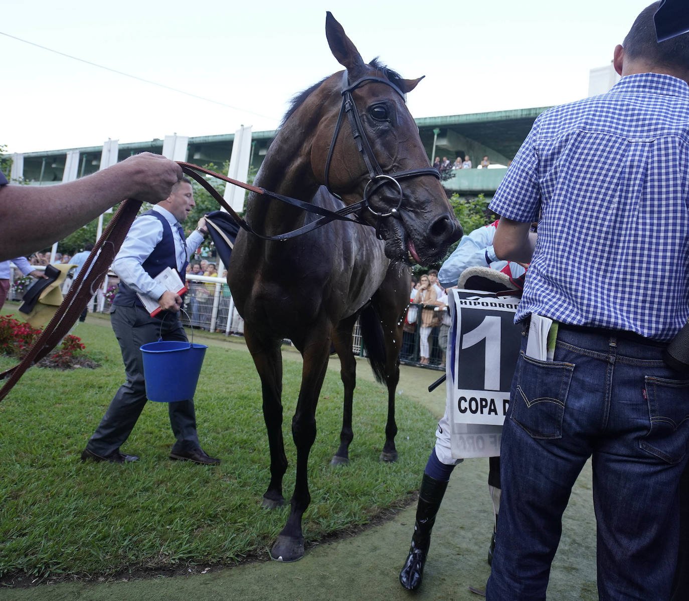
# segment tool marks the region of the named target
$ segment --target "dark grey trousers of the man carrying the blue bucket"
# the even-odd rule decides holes
[[[100,456],[109,455],[127,440],[146,404],[141,346],[158,341],[161,335],[163,340],[187,340],[178,315],[167,315],[161,325],[161,319],[151,317],[143,307],[113,306],[110,322],[120,344],[127,381],[115,393],[110,407],[86,445]],[[172,451],[198,448],[194,399],[167,404],[176,439]]]

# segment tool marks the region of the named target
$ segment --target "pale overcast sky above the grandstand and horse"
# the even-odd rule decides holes
[[[340,70],[331,10],[365,61],[406,78],[415,117],[542,107],[588,92],[648,0],[3,0],[0,145],[10,152],[275,129],[291,96]],[[192,12],[193,11],[193,12]]]

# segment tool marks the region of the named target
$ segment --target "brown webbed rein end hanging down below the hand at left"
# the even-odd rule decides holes
[[[141,208],[141,201],[130,198],[125,200],[114,214],[107,228],[96,242],[86,262],[81,266],[79,275],[74,280],[62,304],[57,308],[50,323],[34,342],[21,362],[0,374],[0,380],[10,377],[0,390],[0,401],[12,390],[24,372],[32,363],[40,361],[52,351],[67,335],[70,328],[86,308],[94,292],[101,286],[107,270],[124,242],[127,232]],[[100,251],[100,252],[99,252]]]

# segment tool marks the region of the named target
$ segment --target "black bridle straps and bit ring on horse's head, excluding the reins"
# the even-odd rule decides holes
[[[376,81],[378,83],[384,83],[385,85],[389,85],[389,87],[391,87],[395,92],[397,92],[400,95],[402,101],[406,103],[404,99],[404,94],[402,93],[400,88],[397,87],[387,78],[369,75],[364,76],[355,81],[353,84],[349,85],[349,77],[347,75],[347,71],[345,70],[345,72],[342,73],[342,106],[340,107],[338,123],[335,126],[335,131],[333,131],[333,139],[328,149],[328,158],[325,161],[325,187],[333,196],[340,198],[340,196],[333,192],[330,188],[329,173],[331,160],[333,158],[333,151],[335,149],[335,144],[337,142],[338,135],[340,134],[340,129],[342,128],[342,120],[345,114],[347,114],[347,118],[349,119],[349,127],[351,127],[352,136],[354,138],[358,151],[361,153],[362,158],[364,159],[364,163],[366,164],[366,167],[369,171],[369,181],[364,187],[364,196],[362,200],[354,204],[350,204],[349,209],[353,209],[353,211],[360,211],[360,209],[363,209],[364,207],[366,209],[369,209],[369,211],[371,211],[371,213],[373,213],[373,215],[375,215],[376,218],[378,218],[378,224],[376,225],[376,235],[378,235],[378,238],[380,238],[380,234],[378,232],[380,228],[380,220],[384,217],[391,216],[395,218],[400,218],[399,211],[400,207],[402,206],[402,197],[404,196],[404,193],[402,192],[402,186],[400,185],[400,182],[398,180],[404,178],[413,178],[417,176],[434,176],[435,178],[438,178],[438,180],[440,180],[440,173],[438,173],[437,169],[433,169],[433,167],[419,167],[418,169],[408,169],[407,171],[397,171],[396,173],[383,172],[382,168],[378,164],[378,160],[376,160],[376,155],[373,154],[373,149],[371,148],[369,139],[366,137],[364,125],[361,123],[361,117],[356,108],[356,103],[354,103],[354,98],[351,95],[353,90],[371,81]],[[380,188],[382,188],[386,184],[394,184],[394,187],[398,194],[398,202],[396,207],[392,207],[387,213],[382,213],[373,209],[373,207],[371,207],[371,203],[369,202],[369,200],[374,193],[376,193]]]

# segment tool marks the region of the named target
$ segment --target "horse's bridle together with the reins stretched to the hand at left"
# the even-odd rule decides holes
[[[433,176],[435,178],[440,179],[440,173],[438,173],[437,169],[433,169],[433,167],[407,169],[406,171],[397,171],[396,173],[392,174],[383,173],[383,170],[380,167],[378,160],[376,160],[376,155],[373,154],[371,143],[369,143],[369,139],[366,137],[366,132],[364,131],[364,126],[361,122],[358,109],[356,108],[356,103],[354,103],[354,98],[351,94],[353,90],[371,81],[376,81],[378,83],[384,83],[385,85],[389,85],[389,87],[395,90],[395,92],[397,92],[404,101],[404,94],[402,93],[400,88],[398,88],[394,83],[389,81],[389,79],[375,76],[365,76],[358,79],[353,84],[349,85],[347,71],[345,70],[345,72],[342,74],[342,105],[340,106],[338,122],[335,127],[335,131],[333,131],[333,138],[331,140],[330,147],[328,149],[327,160],[325,162],[325,187],[333,196],[336,196],[336,198],[340,198],[338,194],[334,193],[330,189],[329,173],[331,161],[333,158],[333,151],[335,149],[338,136],[340,135],[340,129],[342,129],[342,122],[344,120],[345,114],[347,115],[347,118],[349,120],[349,126],[351,127],[352,135],[357,145],[357,149],[361,153],[364,159],[364,163],[366,164],[366,167],[369,171],[369,182],[367,182],[366,186],[364,187],[364,195],[362,200],[354,202],[353,204],[349,204],[347,205],[347,207],[342,207],[342,209],[339,209],[338,211],[330,211],[329,209],[317,207],[315,204],[305,202],[304,200],[298,200],[296,198],[291,198],[289,196],[282,196],[281,194],[268,191],[265,188],[252,186],[251,184],[245,184],[244,182],[233,180],[232,178],[223,176],[220,173],[216,173],[215,171],[209,171],[209,169],[197,167],[196,165],[192,165],[192,163],[189,162],[178,161],[178,165],[182,167],[182,171],[187,176],[196,180],[196,182],[198,182],[200,186],[202,186],[213,198],[215,198],[215,200],[218,201],[220,206],[223,207],[223,209],[225,209],[225,211],[227,211],[230,215],[232,215],[232,218],[236,220],[236,222],[242,229],[257,236],[258,238],[261,238],[262,240],[289,240],[290,238],[296,238],[296,236],[298,235],[305,234],[309,231],[324,226],[325,224],[330,223],[334,220],[349,221],[352,223],[373,227],[371,224],[365,222],[362,219],[361,213],[364,209],[368,209],[369,211],[371,211],[371,213],[373,213],[373,215],[376,216],[376,235],[379,239],[381,239],[382,236],[380,235],[379,230],[382,218],[391,216],[395,218],[400,218],[399,209],[402,206],[402,198],[404,196],[404,193],[402,192],[402,186],[400,185],[400,182],[398,180],[418,176]],[[254,230],[243,218],[237,215],[237,213],[232,209],[232,207],[230,207],[229,204],[225,202],[225,199],[222,196],[220,196],[220,193],[218,193],[218,191],[216,191],[216,189],[214,189],[214,187],[212,187],[212,185],[209,184],[209,182],[207,182],[206,179],[200,175],[200,173],[205,173],[209,176],[213,176],[214,178],[218,178],[219,180],[223,180],[234,186],[238,186],[240,188],[249,190],[256,194],[260,194],[261,196],[275,198],[276,200],[280,200],[281,202],[291,204],[293,207],[297,207],[298,209],[302,209],[303,211],[308,211],[309,213],[315,213],[316,215],[320,215],[320,217],[316,220],[313,220],[309,224],[306,224],[296,230],[287,233],[272,236],[263,235]],[[378,192],[386,184],[393,185],[393,188],[398,194],[398,201],[397,206],[392,207],[387,213],[383,213],[382,211],[378,212],[375,209],[373,209],[373,207],[371,207],[370,200],[373,194]]]

